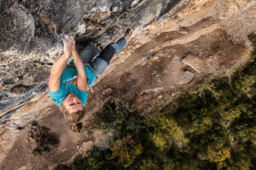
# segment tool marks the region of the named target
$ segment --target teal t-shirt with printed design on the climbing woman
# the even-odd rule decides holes
[[[94,85],[96,77],[88,66],[85,65],[84,69],[86,70],[87,74],[87,88],[89,88]],[[59,107],[61,106],[64,98],[67,96],[67,93],[74,93],[75,96],[80,99],[83,105],[86,104],[86,99],[89,94],[83,90],[78,90],[77,80],[78,70],[75,68],[75,66],[67,66],[65,69],[63,69],[59,90],[56,92],[51,92],[48,89],[50,97],[53,98],[53,101],[56,105]]]

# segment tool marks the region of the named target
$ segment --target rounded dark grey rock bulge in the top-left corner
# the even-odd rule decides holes
[[[15,1],[1,2],[1,51],[25,48],[34,37],[34,18],[28,9]],[[4,24],[3,24],[4,23]]]

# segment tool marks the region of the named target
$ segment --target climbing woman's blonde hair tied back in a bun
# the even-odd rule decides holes
[[[83,117],[85,116],[84,107],[83,110],[78,110],[78,112],[73,112],[72,114],[70,114],[69,110],[67,110],[64,106],[62,106],[62,109],[64,110],[64,117],[66,120],[73,123],[73,125],[70,126],[72,132],[78,132],[80,135],[80,129],[83,128],[83,125],[80,123],[80,121],[82,121]]]

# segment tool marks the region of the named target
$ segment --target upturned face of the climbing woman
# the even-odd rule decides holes
[[[63,106],[69,110],[69,113],[83,111],[83,104],[74,93],[69,93],[63,101]]]

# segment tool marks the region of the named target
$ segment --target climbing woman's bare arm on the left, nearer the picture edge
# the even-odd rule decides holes
[[[64,54],[61,55],[61,57],[53,63],[53,67],[50,71],[49,90],[52,92],[56,92],[59,90],[61,73],[72,51],[72,42],[68,39],[65,39],[64,35],[61,35],[60,38],[64,43]]]

